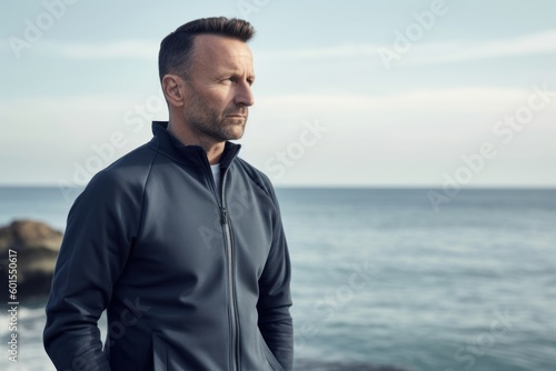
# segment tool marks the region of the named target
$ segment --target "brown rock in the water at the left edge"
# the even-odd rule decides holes
[[[29,298],[49,294],[61,241],[61,232],[38,221],[17,220],[0,228],[0,277],[2,282],[8,281],[13,268],[9,264],[9,251],[16,251],[17,301],[21,303]],[[13,301],[9,300],[8,294],[7,289],[2,290],[4,302]]]

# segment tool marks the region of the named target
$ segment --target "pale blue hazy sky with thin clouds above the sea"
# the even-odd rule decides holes
[[[0,184],[83,186],[167,120],[179,26],[249,20],[240,156],[286,187],[556,187],[556,2],[10,1]]]

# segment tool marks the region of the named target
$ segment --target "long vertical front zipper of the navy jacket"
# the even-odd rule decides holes
[[[227,171],[222,174],[221,193],[220,193],[220,223],[222,224],[225,235],[225,249],[228,262],[228,293],[230,298],[230,328],[231,328],[231,370],[239,370],[239,330],[237,317],[237,299],[236,299],[236,269],[234,257],[234,242],[231,239],[231,225],[229,222],[228,209],[226,203],[225,183]]]

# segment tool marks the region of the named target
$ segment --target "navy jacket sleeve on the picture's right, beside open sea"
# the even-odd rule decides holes
[[[272,245],[259,279],[258,324],[270,351],[284,370],[290,371],[294,368],[294,329],[289,313],[291,267],[278,203],[274,192],[271,195],[277,213]]]

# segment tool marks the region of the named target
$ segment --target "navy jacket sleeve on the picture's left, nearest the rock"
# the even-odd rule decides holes
[[[140,218],[140,194],[97,174],[73,203],[47,304],[44,349],[57,370],[110,370],[97,321],[121,273]]]

